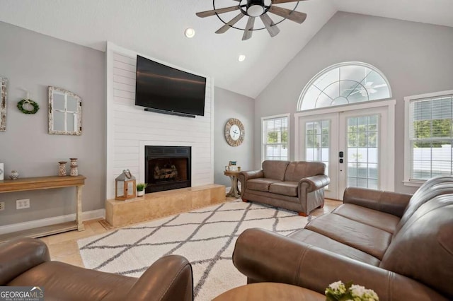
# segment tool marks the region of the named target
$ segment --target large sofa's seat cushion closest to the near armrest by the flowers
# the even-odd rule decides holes
[[[288,237],[291,237],[294,240],[299,240],[300,242],[305,242],[307,244],[312,244],[316,247],[326,249],[336,254],[340,254],[351,259],[355,259],[365,264],[371,264],[373,266],[379,266],[381,261],[374,256],[371,256],[365,252],[362,252],[358,249],[350,247],[336,240],[332,240],[327,236],[321,235],[319,233],[303,229],[296,232],[292,232]]]

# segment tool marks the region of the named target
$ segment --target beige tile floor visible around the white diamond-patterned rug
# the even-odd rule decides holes
[[[232,201],[234,198],[226,198],[226,200]],[[331,212],[333,209],[340,206],[340,204],[340,201],[326,199],[324,207],[312,211],[311,216],[321,216],[324,213]],[[85,230],[81,232],[70,231],[40,238],[40,240],[45,242],[47,247],[49,247],[52,260],[66,262],[67,264],[73,264],[74,266],[84,266],[79,254],[77,240],[109,231],[99,223],[99,220],[88,220],[84,224]]]

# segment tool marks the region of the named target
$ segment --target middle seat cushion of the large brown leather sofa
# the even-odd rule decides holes
[[[311,220],[305,228],[360,249],[379,260],[391,242],[391,233],[338,214],[324,214]]]

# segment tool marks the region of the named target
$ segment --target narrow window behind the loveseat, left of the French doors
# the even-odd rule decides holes
[[[264,117],[263,160],[288,160],[288,116]]]

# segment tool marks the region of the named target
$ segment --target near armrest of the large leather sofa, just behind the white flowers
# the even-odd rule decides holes
[[[447,300],[411,278],[263,229],[239,235],[233,262],[248,282],[288,283],[324,293],[330,283],[354,281],[382,301]]]

